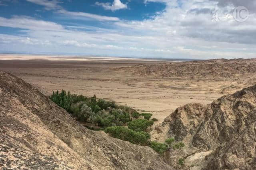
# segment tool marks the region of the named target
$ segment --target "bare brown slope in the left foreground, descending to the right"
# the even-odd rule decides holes
[[[172,169],[149,147],[86,129],[36,88],[3,71],[0,167]]]

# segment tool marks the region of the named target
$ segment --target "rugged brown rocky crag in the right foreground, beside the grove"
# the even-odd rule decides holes
[[[185,143],[176,154],[186,168],[256,169],[256,85],[206,106],[179,107],[156,131]]]

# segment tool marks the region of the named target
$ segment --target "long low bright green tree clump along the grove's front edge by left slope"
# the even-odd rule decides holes
[[[110,134],[112,137],[121,139],[123,141],[129,141],[130,143],[148,145],[150,135],[146,132],[136,132],[127,127],[112,126],[107,127],[105,132]]]

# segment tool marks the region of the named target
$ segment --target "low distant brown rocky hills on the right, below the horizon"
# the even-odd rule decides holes
[[[194,80],[244,80],[256,77],[256,59],[216,59],[190,61],[185,63],[144,64],[128,68],[139,76],[161,76],[171,78],[190,78]]]

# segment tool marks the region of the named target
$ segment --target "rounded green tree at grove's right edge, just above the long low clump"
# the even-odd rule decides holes
[[[138,132],[146,131],[146,129],[152,124],[154,124],[153,121],[148,121],[145,119],[136,119],[128,123],[128,128]]]

